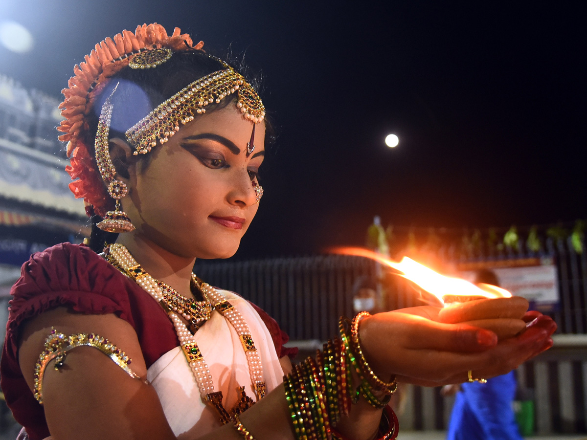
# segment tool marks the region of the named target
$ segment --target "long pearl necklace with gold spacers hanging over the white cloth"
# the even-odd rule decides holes
[[[181,350],[185,355],[185,358],[190,364],[192,374],[194,375],[195,382],[200,390],[202,400],[211,405],[218,411],[220,415],[220,421],[222,424],[226,424],[230,421],[234,421],[235,415],[241,414],[245,409],[249,408],[254,401],[247,396],[244,391],[244,387],[238,387],[237,391],[239,394],[239,400],[234,408],[227,410],[222,405],[222,391],[214,392],[214,381],[212,380],[212,374],[210,368],[204,360],[200,348],[195,341],[194,335],[188,330],[184,321],[178,316],[173,309],[170,309],[164,301],[163,292],[161,286],[157,280],[154,279],[149,273],[147,273],[139,263],[130,255],[130,252],[126,247],[119,243],[114,243],[109,247],[109,255],[112,256],[114,261],[124,269],[134,281],[143,288],[154,300],[156,300],[161,307],[167,312],[173,326],[176,329],[177,339],[180,341]],[[263,368],[261,365],[261,357],[255,348],[255,343],[251,337],[251,330],[247,321],[242,317],[241,313],[229,303],[224,296],[221,295],[214,287],[207,283],[201,282],[195,277],[195,283],[200,288],[204,298],[210,301],[210,305],[222,314],[237,331],[239,340],[241,341],[242,347],[245,350],[247,361],[249,364],[249,374],[251,375],[251,384],[255,392],[257,401],[265,396],[265,383],[263,381]]]

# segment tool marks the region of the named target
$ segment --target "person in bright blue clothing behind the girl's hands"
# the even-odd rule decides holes
[[[477,272],[474,282],[498,286],[497,276],[491,270]],[[448,425],[447,440],[522,440],[512,409],[516,387],[514,371],[492,377],[485,384],[471,382],[460,385]],[[454,385],[443,389],[444,394],[454,391]]]

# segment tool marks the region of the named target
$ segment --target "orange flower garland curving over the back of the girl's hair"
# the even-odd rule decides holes
[[[129,65],[129,56],[141,50],[168,48],[179,51],[188,47],[200,50],[203,46],[204,42],[193,46],[190,35],[182,34],[179,28],[175,28],[173,35],[169,36],[165,28],[157,23],[144,24],[137,26],[134,33],[122,31],[114,38],[106,38],[95,46],[90,55],[85,56],[85,61],[73,67],[75,75],[69,79],[68,88],[61,91],[65,100],[59,109],[65,119],[57,130],[63,133],[59,140],[68,143],[70,165],[65,170],[74,180],[69,188],[76,198],[84,199],[86,206],[92,205],[96,214],[103,216],[108,209],[106,205],[111,202],[95,158],[83,141],[83,134],[89,130],[86,116],[96,96],[106,86],[109,77]]]

